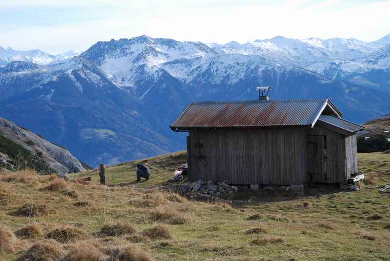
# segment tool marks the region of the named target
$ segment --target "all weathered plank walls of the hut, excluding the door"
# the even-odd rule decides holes
[[[356,136],[346,139],[329,128],[218,129],[189,134],[190,180],[266,185],[309,182],[307,135],[327,137],[327,164],[321,176],[324,182],[340,182],[345,179],[347,168],[357,170]],[[206,157],[206,165],[199,159],[195,143],[203,144],[201,151]]]

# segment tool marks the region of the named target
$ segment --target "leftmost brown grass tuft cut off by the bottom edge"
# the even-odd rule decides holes
[[[63,250],[56,241],[41,241],[32,245],[16,261],[59,261]]]

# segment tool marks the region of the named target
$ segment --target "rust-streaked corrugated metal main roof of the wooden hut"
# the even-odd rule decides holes
[[[334,106],[328,102],[328,99],[193,102],[172,123],[171,129],[313,125],[327,105]]]

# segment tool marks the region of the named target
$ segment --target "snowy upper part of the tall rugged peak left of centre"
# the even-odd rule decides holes
[[[153,72],[165,68],[176,78],[187,80],[192,67],[200,61],[217,55],[203,43],[179,42],[172,39],[153,39],[140,36],[132,39],[98,42],[81,54],[95,62],[117,86],[133,86],[142,67]],[[185,71],[178,68],[180,60],[186,61]],[[175,62],[172,66],[170,62]]]

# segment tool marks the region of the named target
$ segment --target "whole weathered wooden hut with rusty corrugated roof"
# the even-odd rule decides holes
[[[356,132],[329,99],[193,102],[170,126],[189,132],[189,180],[236,185],[346,183]]]

